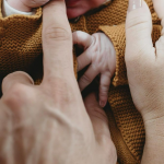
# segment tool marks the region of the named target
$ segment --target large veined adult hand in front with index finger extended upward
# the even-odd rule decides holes
[[[43,83],[23,72],[3,80],[0,162],[116,164],[107,117],[94,95],[85,108],[74,78],[65,1],[49,2],[43,20]]]

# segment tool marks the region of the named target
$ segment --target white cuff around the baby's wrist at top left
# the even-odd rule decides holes
[[[12,14],[34,15],[35,11],[32,11],[32,12],[19,11],[16,9],[10,7],[7,2],[7,0],[3,0],[3,2],[2,2],[2,15],[3,15],[3,17],[10,16]]]

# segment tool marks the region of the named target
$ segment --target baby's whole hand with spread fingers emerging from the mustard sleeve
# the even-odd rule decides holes
[[[73,44],[84,49],[78,57],[78,71],[90,65],[79,81],[80,90],[84,90],[101,73],[99,105],[104,107],[107,103],[110,79],[116,70],[116,51],[113,43],[104,33],[89,35],[77,31],[73,33]]]

